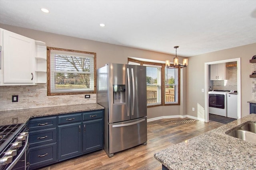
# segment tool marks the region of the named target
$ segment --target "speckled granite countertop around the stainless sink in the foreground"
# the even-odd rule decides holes
[[[226,135],[248,121],[256,123],[256,114],[161,150],[154,157],[170,170],[256,169],[256,144]]]

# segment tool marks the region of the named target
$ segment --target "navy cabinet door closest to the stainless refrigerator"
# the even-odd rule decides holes
[[[83,122],[83,153],[103,149],[103,119]]]

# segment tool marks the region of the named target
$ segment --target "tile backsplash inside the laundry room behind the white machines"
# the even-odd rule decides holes
[[[237,90],[237,67],[228,68],[228,80],[214,80],[212,90]]]

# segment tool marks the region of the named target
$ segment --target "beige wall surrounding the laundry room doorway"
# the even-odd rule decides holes
[[[220,61],[226,59],[241,58],[241,117],[249,115],[249,104],[252,98],[252,84],[255,85],[255,78],[250,78],[252,64],[249,60],[256,55],[256,43],[225,49],[212,53],[189,57],[187,72],[187,113],[188,115],[199,117],[204,109],[204,63]],[[195,107],[195,111],[192,111]]]

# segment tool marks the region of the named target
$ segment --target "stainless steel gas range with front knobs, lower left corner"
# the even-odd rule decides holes
[[[0,126],[0,170],[28,170],[25,123]]]

